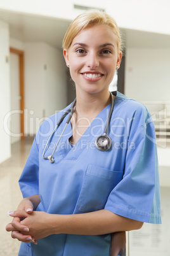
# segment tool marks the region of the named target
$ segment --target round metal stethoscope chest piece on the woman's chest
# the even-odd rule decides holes
[[[98,150],[107,151],[112,146],[112,139],[106,134],[100,135],[96,138],[95,145]]]

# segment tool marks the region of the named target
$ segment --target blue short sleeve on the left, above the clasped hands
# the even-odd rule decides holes
[[[32,143],[30,154],[19,179],[23,197],[39,194],[39,150],[36,137]]]

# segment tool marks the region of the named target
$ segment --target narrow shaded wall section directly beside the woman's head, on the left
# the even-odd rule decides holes
[[[63,53],[45,45],[45,87],[44,105],[45,116],[53,115],[56,110],[67,106],[67,76]]]

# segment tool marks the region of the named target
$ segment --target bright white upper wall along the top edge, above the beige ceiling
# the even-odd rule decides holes
[[[168,0],[6,0],[0,8],[23,13],[70,19],[81,11],[74,10],[74,4],[104,8],[114,16],[119,27],[170,34],[170,2]]]

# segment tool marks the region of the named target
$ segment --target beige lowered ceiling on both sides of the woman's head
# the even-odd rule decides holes
[[[43,41],[62,50],[62,40],[70,20],[0,10],[0,20],[10,27],[10,37],[24,42]],[[121,29],[127,47],[169,48],[170,35]]]

